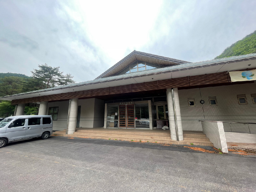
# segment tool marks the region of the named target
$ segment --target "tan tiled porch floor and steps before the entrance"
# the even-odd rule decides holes
[[[92,139],[127,140],[154,143],[168,143],[180,145],[213,146],[212,142],[199,131],[183,131],[182,141],[171,140],[170,130],[161,129],[104,129],[104,128],[77,128],[74,134],[67,134],[66,130],[53,132],[53,136],[80,137]]]

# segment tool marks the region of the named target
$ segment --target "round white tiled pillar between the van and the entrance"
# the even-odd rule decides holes
[[[76,131],[77,109],[78,98],[70,99],[67,134],[73,134]]]

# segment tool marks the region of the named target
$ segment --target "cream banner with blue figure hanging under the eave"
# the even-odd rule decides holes
[[[231,82],[256,80],[256,69],[247,71],[229,71]]]

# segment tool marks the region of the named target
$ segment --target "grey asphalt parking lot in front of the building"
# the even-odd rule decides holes
[[[255,163],[177,145],[52,136],[0,148],[0,190],[254,192]]]

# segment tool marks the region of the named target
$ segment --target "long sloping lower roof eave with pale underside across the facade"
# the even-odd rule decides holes
[[[194,62],[194,63],[182,63],[179,65],[169,66],[165,68],[155,68],[155,69],[127,73],[127,74],[122,74],[117,76],[108,76],[108,77],[98,78],[91,81],[86,81],[86,82],[81,82],[76,84],[69,84],[69,85],[53,87],[53,88],[43,89],[38,91],[8,95],[8,96],[0,97],[0,99],[1,100],[23,99],[23,98],[35,97],[38,95],[43,96],[43,95],[58,94],[62,92],[81,91],[81,90],[98,89],[98,88],[132,84],[132,83],[150,82],[150,81],[156,81],[158,79],[168,79],[168,78],[170,79],[170,78],[178,78],[182,76],[196,76],[196,75],[217,73],[217,72],[223,72],[223,71],[241,70],[245,68],[256,68],[255,59],[256,59],[256,53],[253,53],[253,54],[233,56],[228,58],[207,60],[207,61]],[[251,61],[251,60],[255,60],[255,61],[253,61],[253,63],[245,62],[245,61]],[[236,62],[239,62],[239,63],[236,64]],[[243,64],[240,62],[242,62]],[[164,75],[164,74],[167,74],[167,75]],[[150,78],[146,78],[145,76],[150,76]]]

